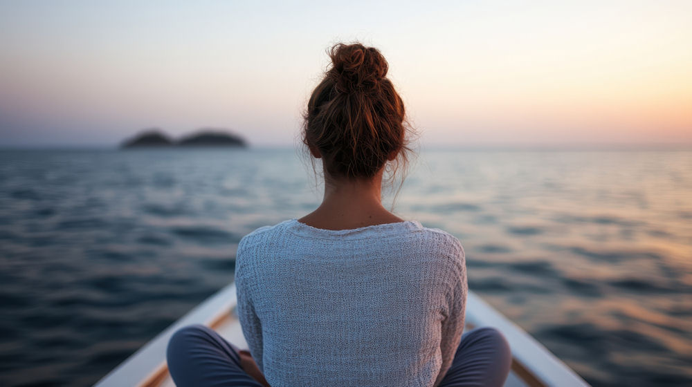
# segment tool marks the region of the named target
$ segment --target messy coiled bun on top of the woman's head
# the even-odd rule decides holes
[[[331,69],[327,75],[341,93],[376,91],[389,69],[379,50],[360,43],[336,44],[329,51],[329,57]]]

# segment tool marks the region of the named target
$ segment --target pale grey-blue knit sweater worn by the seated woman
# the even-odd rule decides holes
[[[260,227],[239,243],[235,283],[272,387],[437,386],[464,329],[464,249],[416,220]]]

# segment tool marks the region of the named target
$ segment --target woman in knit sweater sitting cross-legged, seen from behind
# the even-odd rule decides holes
[[[385,58],[361,44],[337,44],[330,56],[302,133],[322,160],[324,200],[239,243],[237,310],[250,352],[201,325],[183,328],[168,347],[174,381],[501,386],[511,363],[502,334],[483,328],[462,336],[467,285],[459,240],[381,203],[385,168],[405,162],[409,151]]]

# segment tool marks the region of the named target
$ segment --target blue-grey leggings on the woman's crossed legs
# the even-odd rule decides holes
[[[168,369],[178,387],[262,387],[240,365],[239,348],[204,325],[173,334],[167,349]],[[493,328],[464,333],[452,366],[439,387],[502,386],[511,366],[511,351]]]

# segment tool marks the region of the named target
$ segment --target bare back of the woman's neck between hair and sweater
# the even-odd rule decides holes
[[[371,179],[325,179],[325,196],[301,223],[320,229],[358,227],[403,222],[382,205],[382,172]]]

